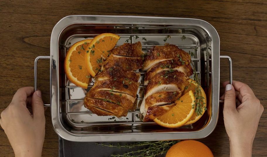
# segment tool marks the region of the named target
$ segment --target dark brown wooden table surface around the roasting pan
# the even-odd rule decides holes
[[[117,2],[117,3],[116,3]],[[213,25],[220,36],[220,54],[233,61],[233,79],[247,83],[267,107],[267,2],[257,1],[0,1],[0,112],[20,87],[33,86],[34,59],[49,55],[54,25],[67,15],[137,15],[198,18]],[[39,88],[49,103],[49,62],[40,61]],[[228,63],[221,61],[220,82],[228,80]],[[41,86],[42,85],[42,86]],[[221,87],[221,93],[224,89]],[[45,112],[43,156],[58,156],[58,136],[50,110]],[[263,112],[253,156],[267,156],[267,112]],[[200,141],[215,156],[229,156],[222,107],[214,132]],[[0,156],[14,156],[0,129]]]

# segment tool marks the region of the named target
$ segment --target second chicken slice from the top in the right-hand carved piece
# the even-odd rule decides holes
[[[193,69],[190,64],[182,65],[182,63],[175,59],[175,60],[166,60],[163,62],[160,62],[158,64],[155,64],[150,69],[146,71],[146,77],[144,80],[144,85],[146,86],[148,84],[148,81],[150,79],[153,79],[153,77],[162,72],[162,71],[170,71],[170,70],[177,70],[181,71],[185,74],[185,76],[191,76],[193,74]]]

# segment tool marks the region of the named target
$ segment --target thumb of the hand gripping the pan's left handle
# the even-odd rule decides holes
[[[35,91],[32,95],[32,113],[33,119],[44,118],[44,103],[41,91]]]

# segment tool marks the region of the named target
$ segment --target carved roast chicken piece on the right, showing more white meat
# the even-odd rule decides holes
[[[145,57],[143,70],[145,96],[140,111],[144,122],[165,114],[174,107],[189,76],[193,74],[191,57],[175,45],[152,47]]]

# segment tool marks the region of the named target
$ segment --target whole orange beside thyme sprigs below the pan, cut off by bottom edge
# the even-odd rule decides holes
[[[213,154],[205,144],[195,140],[185,140],[174,144],[165,157],[213,157]]]

